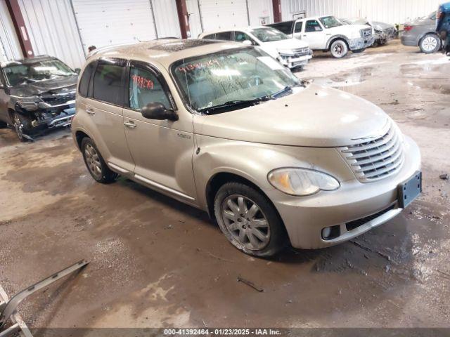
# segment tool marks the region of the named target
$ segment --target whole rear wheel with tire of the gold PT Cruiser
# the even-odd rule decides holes
[[[101,157],[96,145],[91,138],[85,137],[82,140],[82,154],[84,164],[92,178],[98,183],[109,184],[115,182],[117,173],[111,171]]]

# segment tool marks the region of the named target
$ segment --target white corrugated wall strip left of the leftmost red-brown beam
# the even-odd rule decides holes
[[[6,1],[0,0],[0,60],[14,60],[22,57],[19,40],[15,34]]]

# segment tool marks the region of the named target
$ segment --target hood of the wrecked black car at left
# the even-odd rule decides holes
[[[11,95],[19,97],[29,97],[41,95],[46,92],[60,92],[75,90],[77,86],[77,76],[63,77],[60,79],[49,79],[46,81],[25,82],[10,89]]]

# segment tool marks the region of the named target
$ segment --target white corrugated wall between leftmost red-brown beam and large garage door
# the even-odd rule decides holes
[[[69,0],[19,0],[34,55],[52,55],[80,67],[84,53]]]

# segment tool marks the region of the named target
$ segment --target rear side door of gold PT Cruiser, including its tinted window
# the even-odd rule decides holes
[[[125,60],[108,58],[87,65],[80,79],[79,95],[82,97],[77,105],[77,114],[83,114],[80,118],[83,118],[103,159],[120,173],[134,171],[134,161],[124,133],[126,64]],[[89,71],[92,72],[90,79],[84,78]]]

